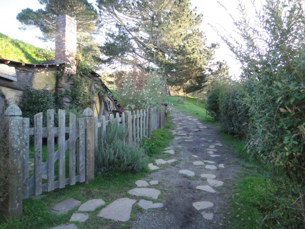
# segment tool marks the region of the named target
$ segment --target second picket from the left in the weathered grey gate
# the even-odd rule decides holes
[[[42,193],[42,112],[34,116],[34,174],[35,195]]]

